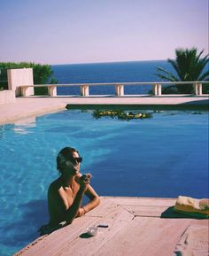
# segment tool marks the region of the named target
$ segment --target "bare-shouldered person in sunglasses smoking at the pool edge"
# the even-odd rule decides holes
[[[81,175],[81,157],[74,148],[66,147],[58,153],[57,168],[60,176],[50,184],[48,190],[48,207],[50,222],[43,226],[41,235],[49,234],[58,229],[59,223],[72,223],[74,218],[99,205],[100,199],[96,191],[89,185],[91,175]],[[82,198],[86,195],[89,203],[81,206]]]

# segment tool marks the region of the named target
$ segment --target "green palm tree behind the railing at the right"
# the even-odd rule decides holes
[[[209,69],[205,71],[205,67],[209,62],[208,54],[204,58],[200,58],[204,50],[197,54],[197,48],[176,49],[175,59],[167,59],[167,62],[174,68],[175,74],[158,67],[157,75],[166,81],[208,81]],[[191,93],[192,85],[178,86],[178,92]]]

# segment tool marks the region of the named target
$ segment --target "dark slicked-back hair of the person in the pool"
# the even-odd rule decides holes
[[[67,166],[68,161],[72,160],[73,152],[77,152],[79,154],[79,151],[71,147],[66,147],[59,151],[57,156],[57,169],[59,172]]]

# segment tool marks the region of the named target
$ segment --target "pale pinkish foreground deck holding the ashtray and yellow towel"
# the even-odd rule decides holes
[[[172,198],[103,197],[93,211],[14,255],[208,256],[208,220],[174,214],[174,204]],[[108,228],[89,237],[86,230],[99,224]]]

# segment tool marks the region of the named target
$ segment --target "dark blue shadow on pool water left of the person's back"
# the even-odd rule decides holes
[[[46,200],[34,200],[19,206],[22,209],[22,218],[13,220],[2,229],[4,237],[2,244],[6,246],[24,247],[39,237],[38,229],[48,223],[48,207]]]

